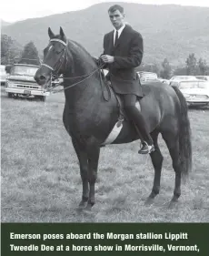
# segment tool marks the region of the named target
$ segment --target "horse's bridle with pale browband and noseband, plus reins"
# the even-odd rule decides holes
[[[52,71],[52,73],[54,72],[54,77],[55,77],[55,78],[59,78],[58,76],[56,76],[56,74],[58,74],[60,68],[63,66],[64,61],[66,61],[66,63],[67,63],[66,48],[67,48],[67,46],[68,46],[68,42],[65,43],[63,40],[60,40],[60,39],[57,39],[57,38],[51,39],[49,42],[59,42],[59,43],[61,43],[61,44],[63,44],[63,45],[65,46],[64,53],[63,53],[63,55],[60,57],[60,59],[55,63],[55,67],[50,67],[49,65],[47,65],[47,64],[45,64],[45,63],[42,63],[42,65],[41,65],[41,66],[44,66],[44,67],[49,68],[49,69]],[[59,62],[60,62],[60,65],[59,65]],[[56,65],[57,65],[57,63],[58,63],[58,65],[59,65],[59,67],[58,67],[57,70],[56,70]],[[86,79],[88,79],[89,77],[92,77],[92,76],[95,74],[95,72],[97,72],[97,71],[100,70],[102,67],[104,67],[104,65],[105,65],[104,63],[99,64],[98,67],[97,67],[93,72],[91,72],[90,74],[86,74],[86,75],[84,75],[84,76],[79,76],[79,77],[62,77],[63,79],[75,79],[75,78],[83,78],[83,77],[85,77],[85,78],[82,79],[82,80],[80,80],[80,81],[78,81],[78,82],[76,82],[76,83],[74,83],[73,85],[68,86],[68,87],[65,87],[65,88],[63,88],[63,89],[59,89],[59,90],[53,91],[53,90],[55,89],[55,87],[54,87],[54,88],[48,89],[48,90],[46,90],[46,91],[53,92],[53,93],[55,94],[55,93],[58,93],[58,92],[61,92],[61,91],[65,91],[65,90],[68,89],[68,88],[75,87],[76,85],[78,85],[78,84],[84,82],[84,81],[85,81]],[[55,73],[56,73],[56,74],[55,74]],[[103,75],[104,75],[103,69],[102,69],[102,73],[103,73]],[[101,72],[99,73],[99,77],[100,77],[100,85],[101,85],[101,87],[102,87],[103,97],[104,97],[104,88],[103,88],[103,86],[102,86]],[[106,85],[106,83],[104,83],[104,84],[105,84],[105,86],[106,86],[106,88],[107,88],[107,91],[108,91],[108,98],[104,97],[104,100],[105,100],[105,101],[108,101],[108,100],[110,99],[110,97],[111,97],[111,92],[110,92],[110,88]],[[58,87],[58,86],[59,86],[59,84],[58,84],[56,87]]]

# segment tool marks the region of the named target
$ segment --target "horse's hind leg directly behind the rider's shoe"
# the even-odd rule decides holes
[[[151,137],[153,138],[154,148],[155,148],[155,150],[150,154],[150,157],[152,159],[153,166],[154,166],[154,186],[151,194],[149,195],[148,199],[145,201],[145,204],[153,203],[155,196],[159,194],[159,191],[160,191],[160,179],[161,179],[161,171],[162,171],[164,157],[157,143],[158,135],[159,135],[159,132],[155,130],[153,133],[151,133]]]

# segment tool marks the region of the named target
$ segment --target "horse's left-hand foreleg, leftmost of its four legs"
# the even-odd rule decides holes
[[[77,158],[79,160],[79,165],[80,165],[80,174],[81,174],[81,179],[82,179],[82,184],[83,184],[83,193],[82,193],[82,200],[79,203],[80,208],[84,208],[87,204],[88,201],[88,194],[89,194],[89,188],[88,188],[88,159],[87,159],[87,154],[75,138],[72,138],[72,142],[75,148],[75,152],[77,154]]]

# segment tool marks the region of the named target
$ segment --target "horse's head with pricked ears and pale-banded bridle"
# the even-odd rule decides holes
[[[35,81],[45,87],[52,75],[59,76],[64,73],[66,62],[67,40],[62,27],[59,35],[55,36],[51,28],[48,28],[49,44],[44,49],[44,60],[41,67],[35,73]]]

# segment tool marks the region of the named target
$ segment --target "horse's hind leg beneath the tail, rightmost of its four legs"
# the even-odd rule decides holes
[[[180,152],[179,152],[179,137],[174,132],[164,132],[162,134],[167,148],[170,152],[173,168],[175,172],[174,182],[174,196],[171,203],[176,202],[181,196],[181,166],[180,166]]]

